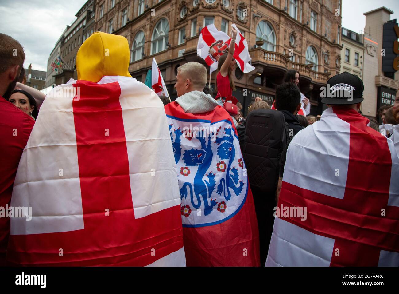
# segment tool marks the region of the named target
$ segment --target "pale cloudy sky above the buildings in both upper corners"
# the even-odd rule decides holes
[[[1,0],[0,32],[18,40],[25,48],[27,68],[47,70],[47,59],[55,42],[86,0]],[[342,26],[359,32],[364,29],[364,12],[385,6],[399,20],[398,0],[342,0]]]

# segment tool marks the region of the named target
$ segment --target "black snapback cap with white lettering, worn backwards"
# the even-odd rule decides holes
[[[363,81],[349,72],[337,74],[327,81],[322,103],[332,105],[357,104],[363,101]],[[323,94],[323,92],[322,92]]]

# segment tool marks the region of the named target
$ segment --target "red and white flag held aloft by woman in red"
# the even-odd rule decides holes
[[[255,69],[249,62],[251,56],[248,51],[248,43],[235,24],[237,30],[235,39],[234,59],[242,72],[247,73]],[[197,44],[197,55],[203,58],[210,66],[210,74],[217,69],[219,57],[229,50],[231,38],[225,33],[218,31],[214,24],[209,24],[201,30]]]

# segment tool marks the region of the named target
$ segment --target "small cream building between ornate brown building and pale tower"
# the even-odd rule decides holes
[[[349,72],[363,79],[363,34],[342,28],[341,37],[341,73]]]

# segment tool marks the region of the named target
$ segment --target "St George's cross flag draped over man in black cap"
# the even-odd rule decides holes
[[[266,266],[399,266],[399,159],[368,123],[333,106],[294,136]]]

